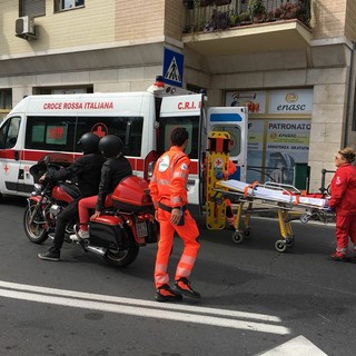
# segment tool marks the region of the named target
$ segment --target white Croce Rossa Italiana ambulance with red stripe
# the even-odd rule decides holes
[[[159,90],[152,90],[159,89]],[[204,95],[174,95],[157,83],[142,92],[29,96],[0,126],[0,194],[28,196],[33,188],[29,169],[48,152],[80,155],[86,132],[118,135],[136,175],[149,180],[154,165],[169,148],[171,130],[189,132],[191,159],[188,199],[202,201],[202,164],[207,146],[207,100]],[[227,113],[226,108],[221,108]],[[236,108],[228,108],[236,111]],[[219,111],[214,108],[215,115]],[[245,135],[245,132],[243,134]],[[246,151],[238,160],[246,167]],[[245,158],[244,158],[245,157]]]

